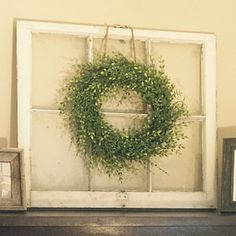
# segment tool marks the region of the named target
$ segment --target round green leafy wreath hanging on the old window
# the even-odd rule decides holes
[[[147,166],[151,157],[167,156],[183,148],[187,107],[165,74],[164,64],[144,64],[121,54],[98,56],[76,65],[64,86],[60,114],[78,151],[86,153],[90,167],[99,166],[122,178],[135,163]],[[110,91],[135,91],[149,107],[143,126],[122,132],[104,119],[102,99]]]

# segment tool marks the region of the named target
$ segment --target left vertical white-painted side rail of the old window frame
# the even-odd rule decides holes
[[[30,127],[32,33],[22,22],[17,25],[17,118],[18,146],[24,149],[26,204],[30,206]]]

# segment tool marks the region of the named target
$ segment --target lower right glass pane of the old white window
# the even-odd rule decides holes
[[[152,168],[153,191],[195,192],[202,183],[202,122],[191,122],[186,128],[188,139],[179,155],[157,158],[156,164],[168,172]]]

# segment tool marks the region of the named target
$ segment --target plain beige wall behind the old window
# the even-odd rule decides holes
[[[0,0],[0,138],[7,138],[8,146],[17,145],[15,20],[18,18],[214,33],[217,126],[235,126],[235,9],[235,0]]]

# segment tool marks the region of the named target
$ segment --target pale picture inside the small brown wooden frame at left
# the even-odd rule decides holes
[[[0,162],[0,199],[11,198],[11,165]]]

